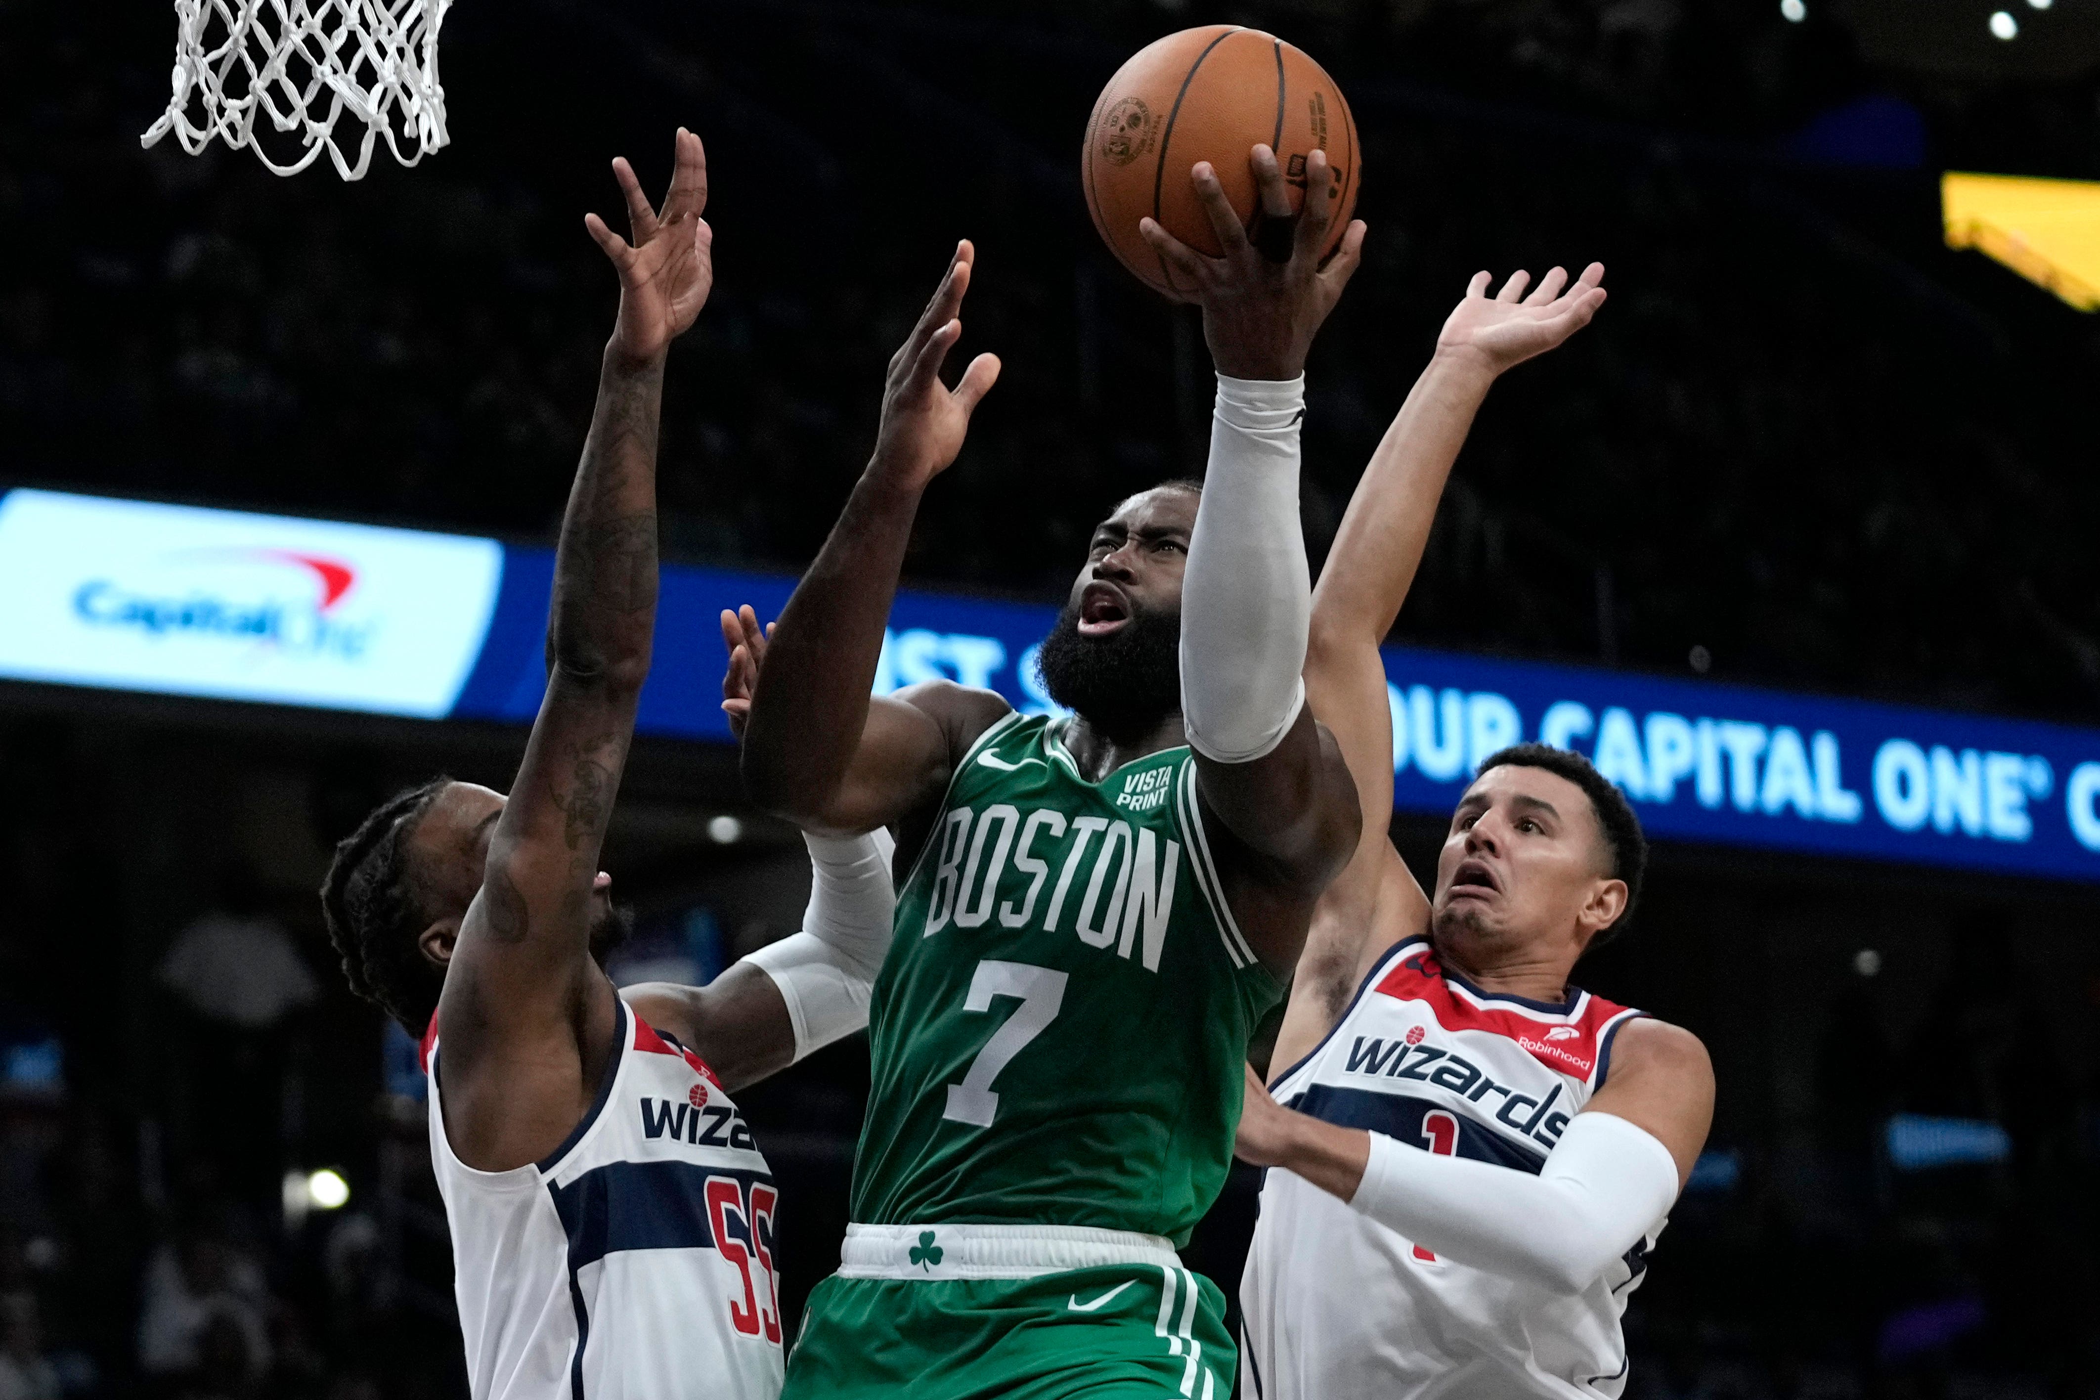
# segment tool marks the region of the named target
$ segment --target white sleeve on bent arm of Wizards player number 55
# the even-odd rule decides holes
[[[769,942],[743,961],[781,989],[794,1022],[794,1058],[867,1024],[867,993],[890,951],[897,892],[890,888],[888,831],[802,835],[815,871],[802,932]]]

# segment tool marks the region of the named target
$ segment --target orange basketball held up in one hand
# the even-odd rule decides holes
[[[1294,212],[1304,204],[1306,155],[1327,151],[1340,204],[1321,256],[1334,252],[1357,208],[1363,164],[1357,122],[1334,78],[1273,34],[1237,25],[1201,25],[1147,44],[1100,90],[1086,124],[1079,178],[1094,227],[1147,285],[1186,290],[1138,235],[1138,220],[1151,214],[1197,252],[1220,256],[1189,168],[1208,160],[1247,222],[1256,212],[1247,151],[1256,143],[1275,149]]]

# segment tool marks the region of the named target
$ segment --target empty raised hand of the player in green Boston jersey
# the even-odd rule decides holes
[[[970,290],[976,250],[968,239],[956,246],[947,275],[920,313],[911,336],[890,357],[882,388],[882,430],[876,460],[897,485],[920,489],[949,468],[970,432],[970,413],[1000,378],[1000,357],[979,355],[962,372],[956,388],[941,382],[941,363],[962,340],[962,298]]]

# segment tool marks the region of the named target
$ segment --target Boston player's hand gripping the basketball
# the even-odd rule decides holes
[[[1247,237],[1210,162],[1197,162],[1189,181],[1224,256],[1205,258],[1153,218],[1140,218],[1138,233],[1174,269],[1176,281],[1193,288],[1182,300],[1203,306],[1203,338],[1218,374],[1235,380],[1296,380],[1304,374],[1312,336],[1342,300],[1342,288],[1363,260],[1363,220],[1350,222],[1340,248],[1321,262],[1340,193],[1327,153],[1312,151],[1306,157],[1304,208],[1296,216],[1277,153],[1258,145],[1247,164],[1254,166],[1262,218],[1283,227],[1292,227],[1289,220],[1296,218],[1287,260],[1277,262]]]

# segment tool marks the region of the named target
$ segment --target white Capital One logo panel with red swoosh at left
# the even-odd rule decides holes
[[[0,674],[441,718],[481,653],[494,539],[0,497]]]

